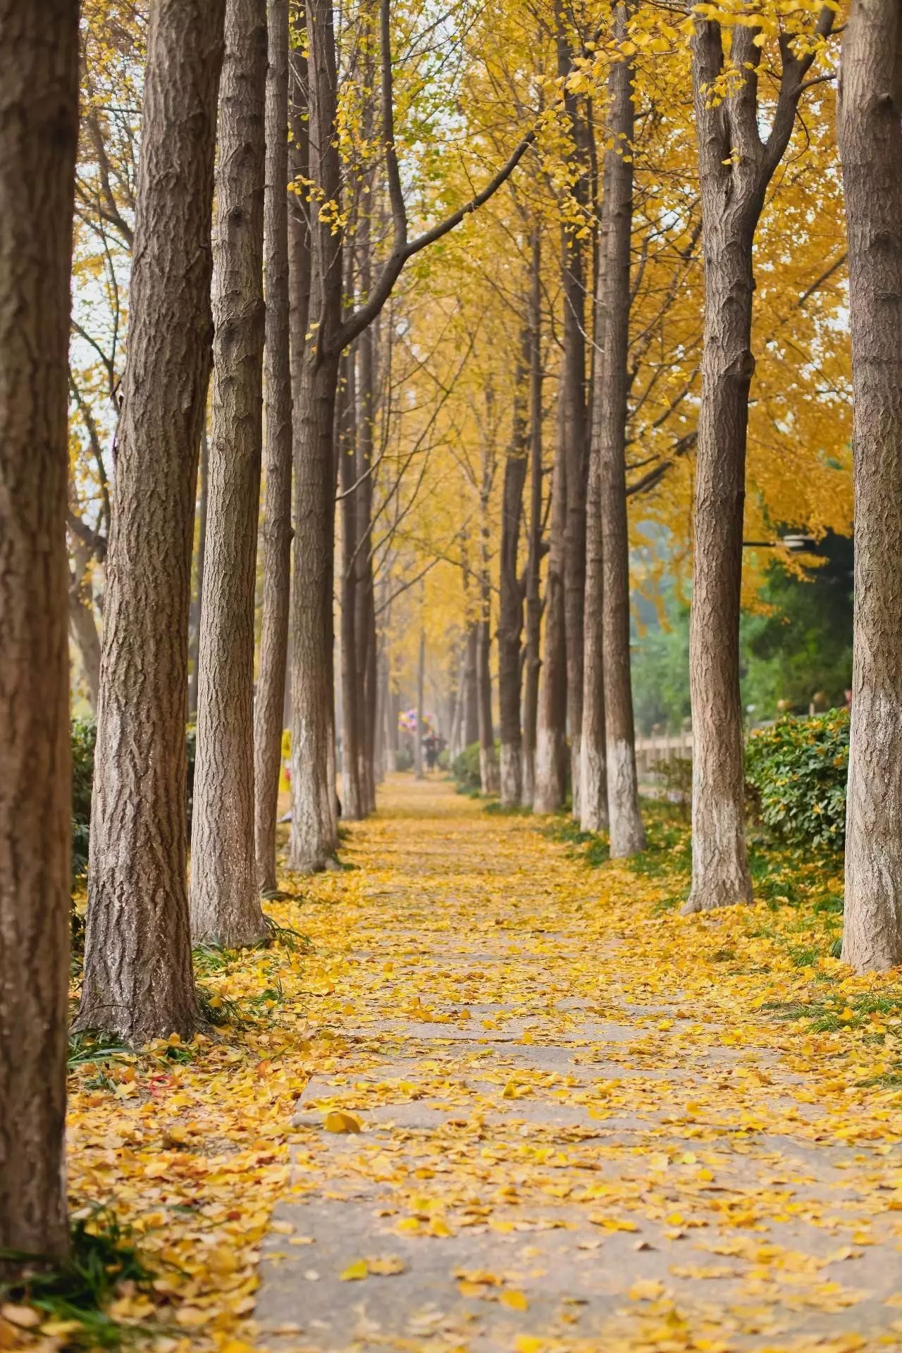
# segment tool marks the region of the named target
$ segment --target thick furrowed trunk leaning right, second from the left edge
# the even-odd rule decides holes
[[[185,888],[188,606],[223,14],[223,0],[157,3],[147,42],[76,1019],[131,1043],[188,1038],[197,1019]]]

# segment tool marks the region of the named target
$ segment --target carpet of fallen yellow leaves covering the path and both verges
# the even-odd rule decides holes
[[[679,916],[678,846],[588,869],[445,785],[394,779],[346,855],[266,904],[308,951],[211,958],[243,1027],[73,1076],[73,1197],[157,1275],[118,1318],[169,1353],[902,1350],[893,976],[813,907]]]

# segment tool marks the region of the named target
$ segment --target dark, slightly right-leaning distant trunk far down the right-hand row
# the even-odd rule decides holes
[[[504,460],[504,483],[502,490],[498,705],[500,713],[500,800],[503,808],[515,808],[523,797],[523,744],[519,723],[523,590],[517,571],[517,557],[529,452],[523,384],[529,369],[530,350],[530,331],[526,329],[522,336],[522,356],[514,373],[511,449]]]

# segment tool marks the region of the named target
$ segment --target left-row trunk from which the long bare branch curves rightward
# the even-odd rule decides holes
[[[310,177],[338,202],[337,73],[331,0],[310,0]],[[295,406],[295,568],[292,580],[292,869],[325,869],[338,847],[334,747],[335,399],[338,394],[342,241],[311,203],[311,340]]]

